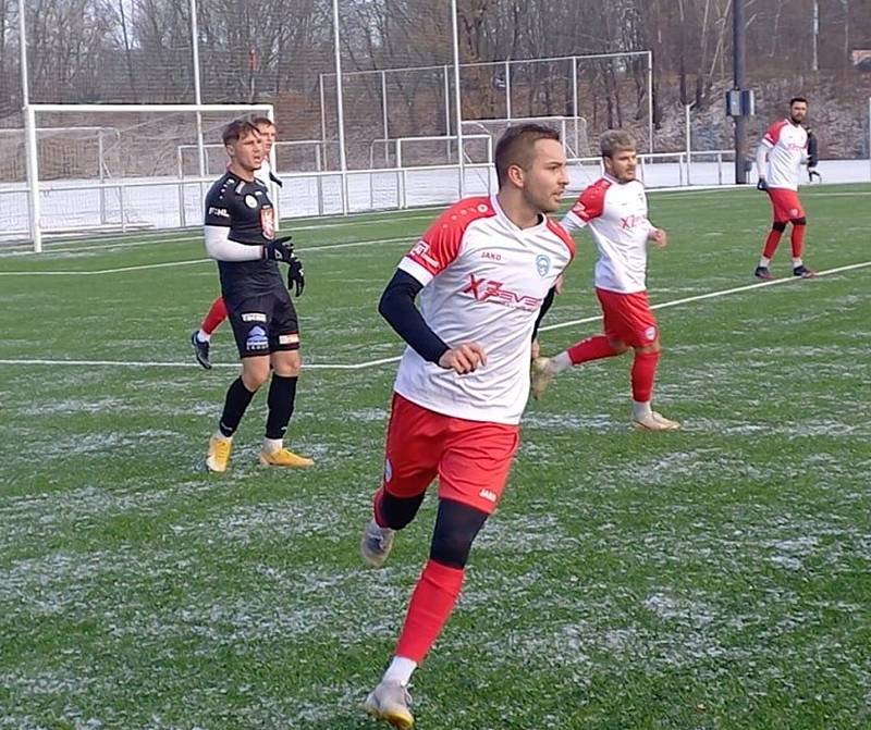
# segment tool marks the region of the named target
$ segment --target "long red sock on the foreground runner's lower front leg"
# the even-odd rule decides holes
[[[427,561],[408,604],[405,626],[396,643],[396,656],[404,656],[417,664],[424,660],[454,610],[465,574],[462,568],[451,568],[436,560]]]

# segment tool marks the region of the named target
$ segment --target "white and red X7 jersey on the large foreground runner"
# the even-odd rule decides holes
[[[451,347],[477,342],[487,364],[458,375],[408,347],[396,393],[445,416],[519,423],[536,319],[574,256],[575,244],[559,223],[542,215],[538,225],[519,228],[495,196],[449,208],[398,268],[424,284],[420,312],[430,329]]]

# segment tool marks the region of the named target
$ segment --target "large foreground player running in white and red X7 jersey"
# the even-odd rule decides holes
[[[408,344],[394,385],[384,474],[360,543],[380,567],[394,533],[439,480],[429,560],[395,654],[366,709],[410,728],[408,681],[453,611],[473,541],[502,496],[529,395],[532,332],[574,257],[548,218],[568,184],[556,132],[510,127],[495,151],[499,193],[449,208],[402,259],[379,311]],[[420,308],[415,298],[420,294]]]

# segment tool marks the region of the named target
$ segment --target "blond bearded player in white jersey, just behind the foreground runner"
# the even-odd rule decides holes
[[[599,260],[596,295],[604,315],[604,334],[588,337],[554,358],[532,362],[532,394],[541,396],[551,380],[572,366],[635,351],[631,370],[633,424],[649,431],[678,429],[653,410],[653,381],[660,360],[660,332],[647,296],[647,249],[667,243],[665,231],[647,218],[645,186],[636,180],[636,144],[622,131],[600,140],[605,174],[580,194],[563,219],[574,232],[589,227]]]

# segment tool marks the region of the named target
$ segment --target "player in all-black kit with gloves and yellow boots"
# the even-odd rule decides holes
[[[269,379],[269,416],[260,463],[310,467],[314,461],[284,448],[302,367],[299,327],[291,295],[279,271],[290,267],[289,283],[303,293],[303,265],[290,236],[275,238],[274,209],[254,173],[263,161],[263,143],[249,122],[231,122],[223,132],[230,156],[226,173],[206,196],[206,251],[218,261],[221,294],[242,358],[242,375],[226,392],[218,432],[209,441],[206,466],[226,470],[238,428],[254,394]]]

